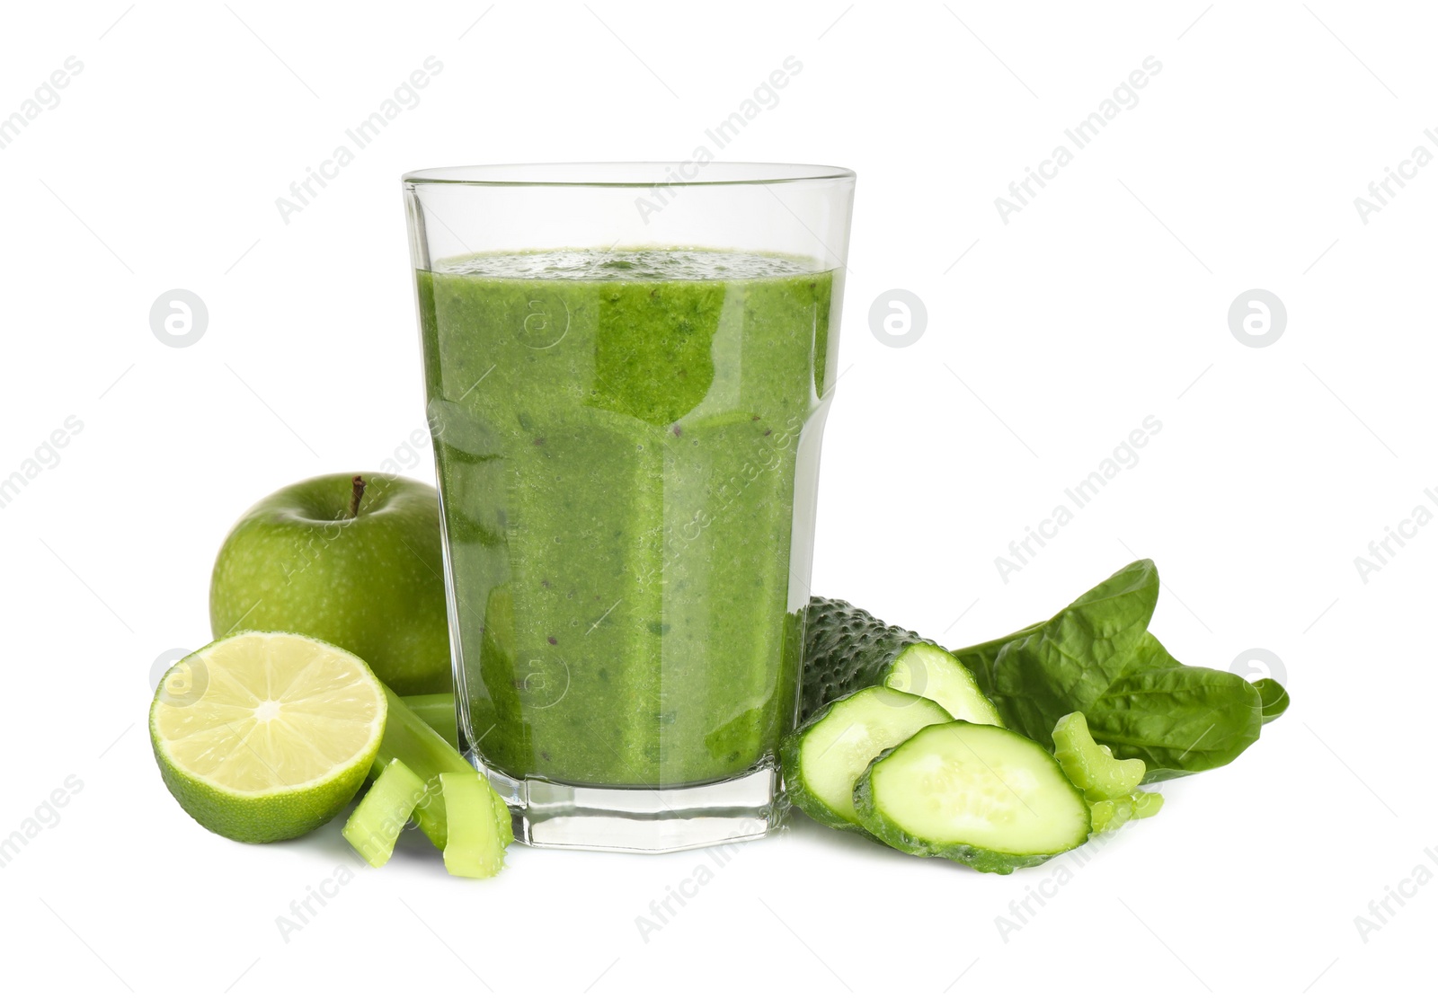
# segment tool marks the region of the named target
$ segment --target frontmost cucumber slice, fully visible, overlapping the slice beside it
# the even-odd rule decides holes
[[[1083,846],[1089,804],[1038,742],[992,725],[923,728],[854,787],[858,820],[913,856],[1012,873]]]

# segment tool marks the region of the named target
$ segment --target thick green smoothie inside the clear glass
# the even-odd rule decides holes
[[[811,529],[834,272],[548,250],[417,283],[472,746],[509,777],[608,787],[772,759],[798,692],[791,535]]]

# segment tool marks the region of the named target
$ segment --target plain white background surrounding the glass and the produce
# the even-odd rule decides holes
[[[1434,14],[591,6],[3,14],[0,115],[83,63],[0,150],[0,477],[83,423],[0,509],[0,837],[83,784],[0,869],[6,989],[1343,995],[1424,975],[1438,886],[1409,883],[1366,940],[1355,917],[1438,874],[1438,526],[1366,581],[1353,559],[1438,512],[1438,165],[1366,224],[1355,198],[1438,152]],[[286,224],[275,198],[427,56],[421,102]],[[712,860],[513,848],[463,882],[423,843],[370,870],[338,825],[272,847],[197,827],[142,719],[157,656],[209,640],[220,539],[259,496],[375,467],[423,426],[398,175],[687,158],[785,56],[802,72],[723,158],[858,173],[814,590],[958,646],[1136,552],[1163,574],[1168,647],[1221,669],[1273,651],[1288,715],[1081,867],[981,876],[795,817],[647,939],[636,917]],[[1137,106],[1005,224],[995,197],[1148,56]],[[175,288],[210,312],[184,349],[148,324]],[[866,321],[894,288],[929,313],[903,349]],[[1265,348],[1227,321],[1254,288],[1288,312]],[[1002,580],[995,557],[1146,416],[1139,463]],[[431,477],[427,450],[400,454]],[[352,882],[282,939],[339,866]],[[1005,936],[1030,892],[1051,897]]]

